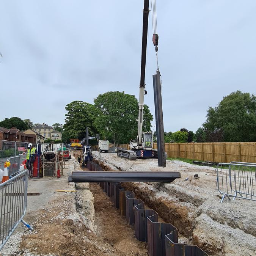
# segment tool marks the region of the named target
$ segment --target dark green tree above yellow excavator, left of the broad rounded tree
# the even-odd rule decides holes
[[[86,127],[89,127],[90,134],[96,134],[97,129],[93,122],[96,109],[94,105],[83,101],[72,101],[66,106],[68,111],[65,114],[65,124],[63,125],[63,141],[71,138],[82,139],[86,136]]]

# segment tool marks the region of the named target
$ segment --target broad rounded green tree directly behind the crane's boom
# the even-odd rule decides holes
[[[138,100],[134,95],[110,91],[99,94],[94,104],[97,109],[95,125],[105,137],[111,137],[114,144],[128,143],[137,137]],[[144,105],[143,119],[143,131],[151,131],[153,116],[147,105]]]

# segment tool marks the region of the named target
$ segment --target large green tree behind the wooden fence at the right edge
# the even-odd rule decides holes
[[[207,110],[206,141],[256,141],[256,96],[236,91]]]

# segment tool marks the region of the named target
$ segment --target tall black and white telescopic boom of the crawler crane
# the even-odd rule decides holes
[[[149,0],[144,0],[142,47],[141,47],[141,69],[140,69],[139,115],[138,115],[138,144],[139,145],[142,144],[146,52],[147,52],[147,39],[148,39],[148,15],[149,15]]]

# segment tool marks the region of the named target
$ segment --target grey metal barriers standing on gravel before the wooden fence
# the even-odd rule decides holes
[[[216,171],[221,203],[225,197],[256,201],[256,163],[219,163]]]

